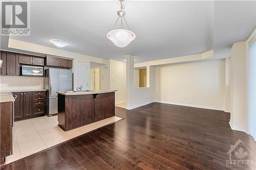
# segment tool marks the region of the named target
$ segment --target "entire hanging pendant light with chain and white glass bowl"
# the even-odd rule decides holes
[[[128,29],[130,29],[130,28],[127,25],[126,19],[124,17],[124,15],[125,15],[124,5],[122,4],[122,2],[124,0],[119,0],[119,1],[120,1],[120,5],[121,5],[121,10],[117,11],[118,17],[117,17],[116,23],[118,22],[118,20],[120,18],[121,28],[114,29],[116,26],[116,23],[115,23],[113,30],[108,32],[108,34],[106,34],[106,37],[108,37],[116,46],[125,47],[136,38],[136,35],[134,34],[134,32],[132,32],[130,30],[123,29],[123,19],[126,23],[127,28]]]

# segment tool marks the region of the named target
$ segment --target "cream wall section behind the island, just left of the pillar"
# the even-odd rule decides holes
[[[115,102],[126,102],[126,63],[110,60],[110,89],[115,92]]]

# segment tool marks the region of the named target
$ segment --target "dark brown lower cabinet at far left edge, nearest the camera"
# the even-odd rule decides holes
[[[0,158],[1,164],[5,157],[12,154],[12,102],[0,104]]]

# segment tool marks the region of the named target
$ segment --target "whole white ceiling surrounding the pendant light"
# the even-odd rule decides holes
[[[124,5],[136,34],[124,48],[106,38],[117,19],[119,1],[31,1],[30,36],[10,38],[54,48],[58,47],[50,39],[61,39],[69,43],[61,50],[119,61],[130,54],[138,63],[213,48],[221,53],[232,42],[245,40],[255,27],[253,1],[124,1]],[[8,38],[2,37],[1,48],[7,44]]]

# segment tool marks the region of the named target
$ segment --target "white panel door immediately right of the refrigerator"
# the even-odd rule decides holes
[[[87,62],[77,62],[77,86],[83,86],[82,90],[88,90],[88,64]]]

